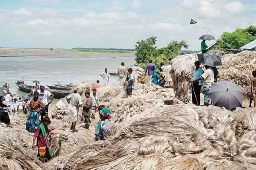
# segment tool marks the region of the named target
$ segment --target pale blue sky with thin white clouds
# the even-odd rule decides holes
[[[157,46],[256,25],[256,0],[0,0],[0,46],[134,48],[157,36]],[[208,42],[209,44],[214,41]]]

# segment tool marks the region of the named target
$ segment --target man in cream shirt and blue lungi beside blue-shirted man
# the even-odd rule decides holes
[[[208,92],[210,91],[211,85],[214,83],[214,70],[212,70],[212,68],[210,66],[205,65],[205,71],[204,74],[202,74],[201,77],[192,80],[191,82],[197,82],[199,80],[203,80],[203,94],[204,94],[204,105],[208,106],[209,104],[211,104],[211,99],[210,97],[207,95]]]

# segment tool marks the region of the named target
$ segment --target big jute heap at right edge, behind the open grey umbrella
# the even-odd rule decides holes
[[[250,78],[256,70],[256,52],[243,51],[222,57],[222,66],[218,67],[220,80],[227,80],[239,85],[246,97],[250,96]]]

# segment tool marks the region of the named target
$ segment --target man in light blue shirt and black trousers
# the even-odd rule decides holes
[[[200,65],[201,65],[200,61],[195,62],[196,68],[194,69],[193,80],[200,78],[203,74],[203,69],[200,68]],[[203,80],[199,80],[192,84],[192,103],[197,106],[200,105],[200,93],[201,93],[202,85],[203,85]]]

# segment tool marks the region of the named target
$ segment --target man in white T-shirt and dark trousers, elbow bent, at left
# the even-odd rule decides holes
[[[51,104],[53,102],[54,99],[54,95],[45,90],[44,86],[40,87],[40,90],[38,91],[39,93],[39,100],[41,100],[44,104],[45,104],[45,108],[43,110],[43,112],[41,113],[41,120],[44,116],[48,117],[48,108],[49,108],[49,104]],[[48,103],[48,98],[51,97],[51,101]]]

